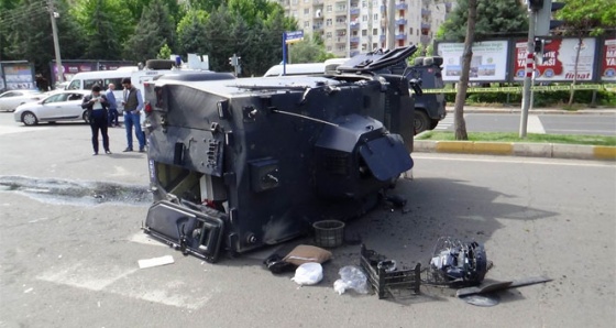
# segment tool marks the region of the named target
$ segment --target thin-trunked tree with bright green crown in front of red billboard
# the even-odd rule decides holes
[[[602,35],[606,32],[606,29],[614,30],[616,24],[616,3],[614,0],[566,0],[565,3],[565,7],[557,12],[557,17],[565,22],[564,34],[578,37],[572,83],[572,85],[575,85],[578,83],[578,63],[580,61],[583,39]],[[574,94],[575,90],[571,88],[569,96],[570,106],[573,103]]]

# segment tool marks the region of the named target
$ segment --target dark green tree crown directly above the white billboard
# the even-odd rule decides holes
[[[447,41],[464,41],[469,22],[469,0],[459,0],[458,7],[437,32],[437,37]],[[517,0],[493,0],[477,2],[475,23],[476,41],[495,36],[526,35],[528,17],[526,7]]]

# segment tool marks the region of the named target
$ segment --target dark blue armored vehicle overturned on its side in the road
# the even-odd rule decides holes
[[[146,84],[154,204],[144,231],[215,262],[372,209],[413,166],[409,83],[391,67],[414,52],[359,55],[328,77]]]

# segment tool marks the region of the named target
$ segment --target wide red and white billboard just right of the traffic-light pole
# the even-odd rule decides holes
[[[578,81],[592,81],[594,79],[596,40],[586,37],[579,44],[578,39],[547,40],[543,47],[543,61],[538,62],[535,68],[537,81],[572,81],[575,76],[575,56],[578,58]],[[527,42],[516,42],[514,55],[514,80],[522,81],[526,67]]]

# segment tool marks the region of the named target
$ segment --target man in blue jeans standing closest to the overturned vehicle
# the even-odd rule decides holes
[[[135,88],[130,77],[124,77],[122,79],[122,87],[124,87],[124,100],[122,105],[124,106],[124,128],[127,129],[127,142],[128,146],[124,152],[133,151],[133,125],[135,129],[135,136],[139,141],[139,152],[145,152],[145,138],[143,138],[143,131],[141,130],[141,109],[143,108],[143,98],[141,91]]]

